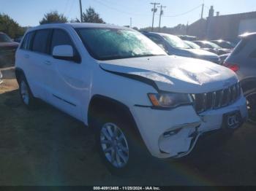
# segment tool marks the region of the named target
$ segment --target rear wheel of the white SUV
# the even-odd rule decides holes
[[[34,95],[31,93],[29,84],[26,81],[26,77],[20,75],[20,77],[18,77],[18,85],[20,87],[19,93],[21,101],[28,109],[34,109],[37,106],[37,99],[34,98]],[[26,91],[26,95],[24,94],[24,91]]]

